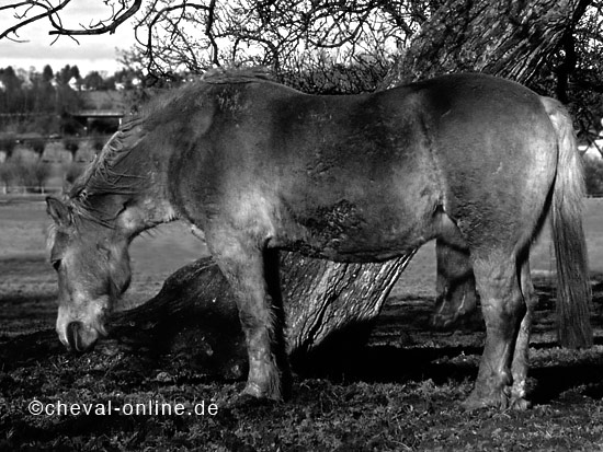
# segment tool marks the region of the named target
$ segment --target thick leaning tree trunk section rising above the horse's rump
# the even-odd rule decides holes
[[[448,0],[423,24],[384,86],[451,72],[526,84],[550,60],[590,0]]]

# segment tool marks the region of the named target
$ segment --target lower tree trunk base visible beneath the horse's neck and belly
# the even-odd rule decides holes
[[[304,360],[319,346],[362,345],[413,255],[361,267],[280,253],[287,354]],[[114,324],[111,336],[117,341],[110,348],[128,343],[190,354],[206,373],[226,378],[242,376],[247,366],[235,297],[209,257],[178,270],[157,297],[118,314]],[[355,339],[339,336],[342,332],[353,332]]]

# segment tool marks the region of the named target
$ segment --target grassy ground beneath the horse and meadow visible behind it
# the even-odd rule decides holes
[[[546,234],[533,254],[539,304],[531,347],[525,413],[465,413],[459,402],[475,380],[483,333],[434,333],[424,327],[434,287],[433,246],[413,259],[391,293],[368,346],[337,371],[295,378],[292,401],[241,405],[240,381],[207,380],[178,356],[135,352],[0,363],[1,450],[601,450],[603,449],[603,209],[589,200],[585,230],[594,278],[596,346],[562,350],[550,334],[554,267]],[[0,347],[10,338],[53,327],[55,276],[46,263],[47,220],[41,201],[0,199]],[[183,224],[133,245],[129,304],[146,300],[175,268],[205,254]],[[26,352],[26,350],[24,350]],[[103,416],[33,415],[41,401],[83,404],[169,404],[184,413]],[[207,410],[196,415],[204,404]],[[128,405],[129,404],[129,405]],[[208,407],[215,404],[217,413]],[[69,405],[70,407],[75,405]],[[49,407],[49,408],[48,408]],[[167,409],[167,408],[166,408]]]

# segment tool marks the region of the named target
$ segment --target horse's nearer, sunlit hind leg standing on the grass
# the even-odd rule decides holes
[[[520,287],[516,256],[501,251],[488,254],[478,252],[473,255],[486,322],[486,344],[474,391],[464,406],[466,409],[487,406],[504,409],[510,404],[513,381],[511,360],[519,326],[526,310]]]

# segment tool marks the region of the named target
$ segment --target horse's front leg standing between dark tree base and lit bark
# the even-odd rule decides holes
[[[276,288],[265,278],[264,251],[231,235],[206,234],[208,247],[230,283],[246,336],[249,374],[242,395],[282,401],[291,384]],[[273,263],[275,259],[269,259]]]

